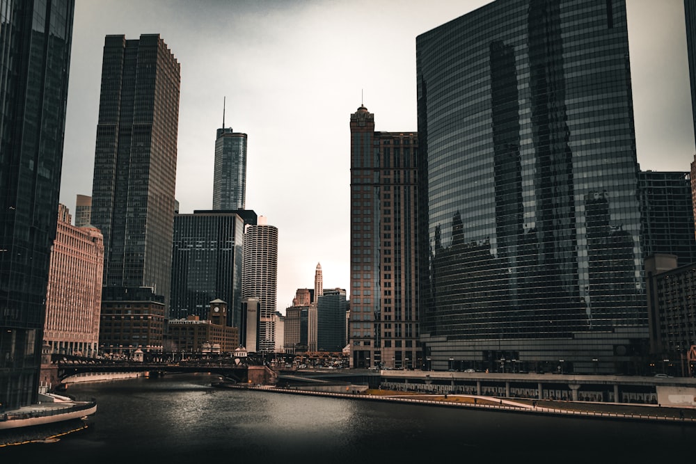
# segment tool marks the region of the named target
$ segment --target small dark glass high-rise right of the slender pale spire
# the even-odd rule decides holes
[[[317,298],[317,351],[341,353],[346,346],[345,289],[326,289]]]

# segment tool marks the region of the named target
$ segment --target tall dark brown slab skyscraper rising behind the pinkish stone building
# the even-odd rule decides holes
[[[180,65],[159,34],[106,35],[92,224],[104,286],[151,287],[168,306]]]

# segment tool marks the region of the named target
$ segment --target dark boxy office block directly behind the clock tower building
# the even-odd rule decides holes
[[[231,211],[174,216],[169,317],[208,319],[209,303],[228,303],[227,323],[239,327],[244,220]]]

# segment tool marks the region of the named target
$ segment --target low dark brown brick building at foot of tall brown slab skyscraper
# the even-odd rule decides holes
[[[145,356],[164,349],[164,296],[149,287],[104,287],[100,319],[103,354],[132,358],[137,349]]]

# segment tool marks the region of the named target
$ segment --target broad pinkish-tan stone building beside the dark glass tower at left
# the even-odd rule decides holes
[[[68,208],[58,205],[43,334],[51,353],[97,355],[103,273],[102,233],[72,225]]]

